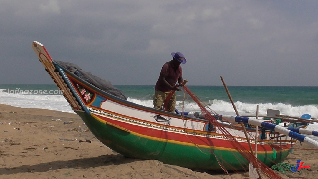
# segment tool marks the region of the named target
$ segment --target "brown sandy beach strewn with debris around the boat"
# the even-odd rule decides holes
[[[70,122],[69,124],[64,124]],[[104,146],[76,114],[0,104],[0,178],[231,178],[122,156]],[[284,162],[310,165],[284,178],[318,178],[318,152],[298,142]],[[311,149],[311,150],[305,150]],[[231,173],[247,179],[248,172]]]

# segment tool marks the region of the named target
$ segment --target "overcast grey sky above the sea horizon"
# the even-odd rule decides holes
[[[0,84],[54,84],[31,48],[114,85],[318,86],[318,1],[0,0]]]

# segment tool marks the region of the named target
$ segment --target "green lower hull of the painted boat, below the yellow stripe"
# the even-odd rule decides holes
[[[222,170],[219,162],[228,170],[248,169],[249,162],[237,151],[182,145],[164,139],[153,140],[100,122],[89,114],[82,112],[77,114],[98,140],[126,157],[156,159],[165,164],[189,169]],[[265,165],[272,166],[282,162],[288,154],[288,151],[278,153],[270,151],[258,154],[257,157]]]

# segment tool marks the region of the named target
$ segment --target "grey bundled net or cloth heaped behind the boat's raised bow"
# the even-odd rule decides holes
[[[101,79],[98,76],[92,75],[90,72],[83,71],[78,65],[75,65],[70,62],[62,62],[54,60],[57,64],[66,68],[68,71],[73,72],[79,78],[85,80],[87,83],[92,84],[93,86],[98,87],[99,89],[109,93],[111,95],[117,96],[123,100],[127,100],[125,94],[118,88],[114,87],[112,83],[108,80]]]

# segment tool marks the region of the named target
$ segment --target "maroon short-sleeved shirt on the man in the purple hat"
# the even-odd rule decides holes
[[[175,70],[175,66],[173,65],[171,60],[162,66],[160,75],[162,74],[168,75],[166,80],[171,86],[176,86],[176,82],[178,81],[179,78],[182,77],[182,68],[180,65],[178,65]],[[171,91],[171,88],[167,86],[160,79],[160,76],[159,76],[159,79],[157,80],[157,83],[155,86],[155,90],[167,92],[167,91]]]

